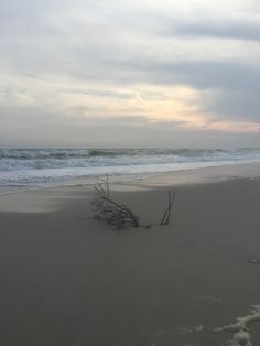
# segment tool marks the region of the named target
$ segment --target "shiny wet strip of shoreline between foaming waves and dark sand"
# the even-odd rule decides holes
[[[156,183],[161,185],[160,181],[163,181],[165,184],[174,183],[176,185],[215,183],[239,177],[256,179],[260,176],[260,162],[225,164],[167,172],[129,173],[123,175],[89,175],[83,179],[72,179],[46,185],[0,185],[0,198],[3,195],[29,191],[89,186],[96,183],[99,177],[104,176],[109,176],[112,184],[121,185],[131,183],[141,184],[143,182],[149,182],[151,185]],[[175,181],[173,182],[173,180]]]

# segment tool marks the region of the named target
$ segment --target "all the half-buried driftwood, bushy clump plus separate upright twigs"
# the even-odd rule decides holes
[[[98,183],[93,185],[95,199],[93,207],[95,217],[98,220],[104,220],[117,228],[140,227],[139,217],[124,204],[119,204],[110,197],[110,188],[108,177],[99,180]],[[167,192],[167,207],[163,213],[160,226],[170,225],[172,209],[175,202],[175,191]],[[152,224],[144,226],[145,229],[152,227]]]

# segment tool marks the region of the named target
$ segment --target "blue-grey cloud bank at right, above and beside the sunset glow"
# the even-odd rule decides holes
[[[215,90],[203,109],[214,118],[260,120],[260,67],[229,62],[149,64],[136,62],[122,68],[129,76],[158,85],[189,85],[195,89]]]

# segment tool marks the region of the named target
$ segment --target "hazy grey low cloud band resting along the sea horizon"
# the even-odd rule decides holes
[[[129,123],[91,121],[64,118],[61,115],[26,109],[20,113],[6,113],[1,119],[0,147],[72,147],[72,148],[232,148],[252,145],[259,147],[259,133],[238,134],[218,131],[185,131],[180,130],[177,122],[147,123],[145,119],[137,120],[136,126]],[[39,122],[33,121],[37,113]],[[95,120],[95,119],[93,119]],[[129,119],[130,120],[130,119]],[[130,120],[131,121],[131,120]]]

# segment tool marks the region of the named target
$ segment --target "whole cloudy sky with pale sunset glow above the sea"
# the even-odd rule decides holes
[[[260,148],[259,0],[0,0],[0,147]]]

